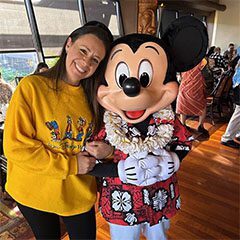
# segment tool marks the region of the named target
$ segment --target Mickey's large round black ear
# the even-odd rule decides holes
[[[176,71],[185,72],[205,57],[208,47],[207,28],[197,18],[184,16],[169,25],[162,40],[170,48]]]

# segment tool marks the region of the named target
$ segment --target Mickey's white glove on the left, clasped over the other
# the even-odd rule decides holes
[[[147,186],[159,181],[161,167],[159,158],[140,152],[118,163],[118,175],[122,182]]]

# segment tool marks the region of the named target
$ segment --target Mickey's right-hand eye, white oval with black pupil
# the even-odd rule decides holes
[[[153,69],[148,60],[143,60],[139,66],[139,79],[142,87],[147,87],[152,81]]]

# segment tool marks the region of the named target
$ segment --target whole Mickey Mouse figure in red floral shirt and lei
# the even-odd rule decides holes
[[[130,34],[113,43],[98,101],[106,109],[97,139],[115,148],[118,177],[102,179],[100,209],[114,240],[167,239],[169,219],[180,208],[176,171],[191,136],[171,104],[178,93],[176,71],[205,56],[204,24],[186,16],[162,39]],[[137,186],[138,185],[138,186]]]

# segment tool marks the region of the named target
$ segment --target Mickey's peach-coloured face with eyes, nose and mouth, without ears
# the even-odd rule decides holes
[[[111,51],[105,72],[108,86],[99,87],[98,100],[127,122],[141,122],[177,96],[177,83],[163,84],[167,68],[167,55],[159,44],[144,42],[134,52],[120,43]]]

